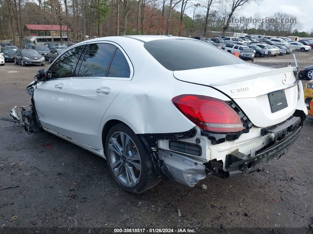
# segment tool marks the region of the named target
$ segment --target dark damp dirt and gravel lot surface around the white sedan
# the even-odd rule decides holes
[[[295,54],[299,68],[312,65],[313,51]],[[254,60],[276,68],[285,62],[293,63],[292,56]],[[30,104],[24,90],[41,68],[0,67],[0,117],[8,117],[15,105]],[[193,188],[162,181],[138,195],[115,183],[104,159],[50,133],[28,136],[22,127],[12,126],[0,122],[2,233],[10,227],[26,227],[16,231],[29,233],[40,233],[40,228],[113,233],[113,227],[191,228],[196,233],[233,232],[236,227],[243,232],[251,227],[277,233],[279,227],[290,233],[313,230],[313,117],[306,119],[288,153],[263,172],[227,180],[212,176]]]

